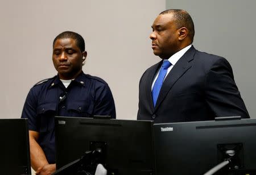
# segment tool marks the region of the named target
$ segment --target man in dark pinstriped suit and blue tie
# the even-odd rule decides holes
[[[137,119],[155,123],[249,118],[232,68],[223,57],[197,51],[187,11],[166,10],[152,24],[152,49],[162,60],[139,82]]]

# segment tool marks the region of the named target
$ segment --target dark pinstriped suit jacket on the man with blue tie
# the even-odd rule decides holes
[[[168,123],[214,120],[216,116],[249,118],[229,62],[193,46],[167,75],[154,107],[151,84],[162,62],[141,77],[137,119]]]

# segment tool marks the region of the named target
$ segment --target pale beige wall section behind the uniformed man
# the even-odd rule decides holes
[[[118,119],[136,119],[139,78],[159,61],[148,38],[163,0],[0,0],[0,118],[20,118],[28,90],[52,77],[52,41],[71,30],[85,39],[83,70],[108,82]]]

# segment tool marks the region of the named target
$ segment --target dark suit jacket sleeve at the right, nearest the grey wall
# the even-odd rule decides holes
[[[212,65],[205,87],[207,103],[216,116],[250,118],[226,59],[221,57]]]

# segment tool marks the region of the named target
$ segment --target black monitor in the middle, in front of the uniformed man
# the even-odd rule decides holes
[[[108,174],[154,174],[151,121],[55,117],[55,132],[57,169],[100,147]]]

